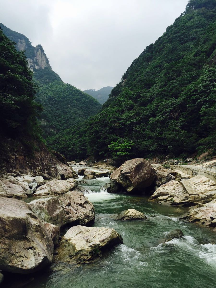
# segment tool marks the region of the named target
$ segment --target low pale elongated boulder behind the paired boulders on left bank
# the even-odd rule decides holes
[[[53,179],[37,188],[34,196],[60,196],[75,187],[76,185],[69,181]]]

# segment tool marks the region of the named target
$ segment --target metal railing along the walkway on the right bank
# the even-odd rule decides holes
[[[192,158],[187,159],[158,159],[148,160],[150,164],[159,164],[163,166],[179,165],[179,166],[190,166],[202,170],[207,170],[216,173],[216,160],[197,160]]]

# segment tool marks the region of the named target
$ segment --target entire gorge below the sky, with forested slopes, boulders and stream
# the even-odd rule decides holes
[[[214,286],[215,12],[188,1],[85,91],[0,24],[1,287]]]

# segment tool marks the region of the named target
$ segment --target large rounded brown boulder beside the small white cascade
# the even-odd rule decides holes
[[[155,171],[150,163],[143,158],[128,160],[110,176],[127,192],[143,192],[155,180]]]

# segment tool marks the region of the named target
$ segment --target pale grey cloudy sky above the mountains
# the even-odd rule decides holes
[[[0,0],[0,22],[40,43],[52,69],[79,89],[115,86],[188,0]]]

